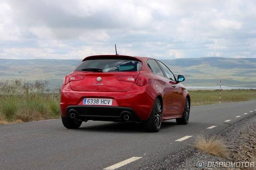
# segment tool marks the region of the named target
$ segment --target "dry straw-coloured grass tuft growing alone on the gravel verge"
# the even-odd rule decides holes
[[[229,158],[229,150],[224,142],[217,136],[198,135],[194,146],[203,152],[216,155],[218,157]]]

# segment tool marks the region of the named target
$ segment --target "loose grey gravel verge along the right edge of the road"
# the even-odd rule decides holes
[[[225,142],[229,148],[230,158],[221,158],[215,155],[206,154],[188,146],[178,152],[172,153],[160,162],[152,165],[143,165],[138,169],[198,169],[196,163],[203,161],[207,165],[211,162],[255,162],[253,168],[256,169],[256,115],[247,117],[231,124],[224,131],[216,134]],[[204,169],[212,169],[204,167]],[[220,169],[214,168],[214,169]],[[223,168],[222,168],[223,169]],[[230,169],[230,168],[227,168]],[[238,169],[238,168],[234,168]]]

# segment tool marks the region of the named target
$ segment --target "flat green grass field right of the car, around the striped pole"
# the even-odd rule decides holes
[[[191,105],[219,103],[219,90],[189,90]],[[221,103],[256,99],[256,89],[221,90]]]

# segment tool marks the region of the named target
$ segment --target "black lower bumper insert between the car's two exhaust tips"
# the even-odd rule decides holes
[[[134,110],[128,107],[71,105],[67,107],[67,116],[71,117],[71,113],[80,120],[125,121],[124,115],[129,116],[129,121],[138,120]]]

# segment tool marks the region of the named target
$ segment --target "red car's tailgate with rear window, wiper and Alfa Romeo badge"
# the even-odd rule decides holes
[[[142,62],[136,58],[93,57],[84,59],[71,75],[83,76],[70,81],[72,90],[88,92],[127,92],[139,75]]]

